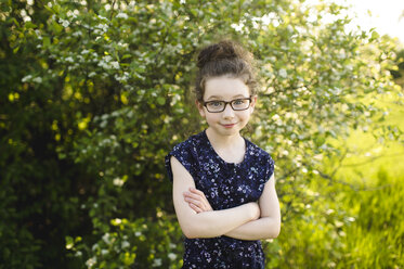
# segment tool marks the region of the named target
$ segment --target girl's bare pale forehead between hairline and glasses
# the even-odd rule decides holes
[[[230,100],[239,98],[239,95],[248,98],[250,95],[247,85],[239,78],[233,77],[212,77],[208,78],[205,84],[204,99],[220,98]]]

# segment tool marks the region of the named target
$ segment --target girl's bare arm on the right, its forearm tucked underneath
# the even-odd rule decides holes
[[[261,216],[257,220],[242,225],[224,235],[240,240],[274,239],[281,232],[281,209],[275,191],[275,178],[265,183],[259,200]]]

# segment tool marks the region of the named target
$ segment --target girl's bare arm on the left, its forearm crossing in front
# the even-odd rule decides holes
[[[223,210],[196,213],[183,196],[183,193],[187,192],[190,188],[195,188],[194,179],[175,157],[171,157],[170,161],[173,175],[174,208],[186,238],[220,236],[259,217],[257,203],[248,203]]]

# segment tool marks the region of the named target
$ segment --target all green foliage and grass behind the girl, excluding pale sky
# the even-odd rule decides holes
[[[322,1],[0,3],[0,268],[181,267],[164,156],[205,128],[193,60],[223,37],[260,73],[245,136],[276,161],[268,267],[404,266],[396,40]]]

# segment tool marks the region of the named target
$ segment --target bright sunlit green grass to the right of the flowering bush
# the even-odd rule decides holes
[[[388,95],[375,101],[390,110],[376,125],[404,131],[404,107]],[[308,178],[318,196],[265,245],[274,254],[268,268],[404,268],[403,142],[379,143],[372,126],[337,142],[349,154],[341,165],[324,161],[326,172],[338,167],[331,179]]]

